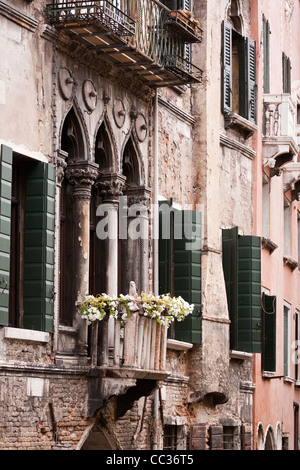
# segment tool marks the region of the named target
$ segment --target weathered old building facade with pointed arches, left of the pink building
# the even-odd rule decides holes
[[[274,426],[258,4],[0,1],[0,449],[250,450]],[[142,293],[193,313],[167,328]],[[129,318],[89,324],[100,294]]]

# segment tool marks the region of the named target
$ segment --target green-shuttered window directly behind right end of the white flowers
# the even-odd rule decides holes
[[[171,201],[160,204],[159,293],[181,295],[195,305],[193,314],[172,330],[175,339],[190,343],[201,342],[200,215],[177,210]]]

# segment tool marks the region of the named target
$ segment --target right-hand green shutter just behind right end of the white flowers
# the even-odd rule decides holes
[[[179,212],[179,211],[178,211]],[[178,215],[178,214],[177,214]],[[174,218],[174,290],[175,296],[194,304],[194,311],[183,322],[176,322],[175,339],[201,343],[201,221],[196,211],[180,211]],[[190,243],[191,232],[195,244]]]

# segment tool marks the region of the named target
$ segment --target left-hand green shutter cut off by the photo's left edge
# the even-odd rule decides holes
[[[0,156],[0,325],[8,325],[12,149],[1,146]]]

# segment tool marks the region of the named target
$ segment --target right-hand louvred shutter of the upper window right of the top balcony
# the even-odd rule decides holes
[[[247,115],[249,121],[256,123],[257,86],[256,86],[256,43],[246,38],[247,57]]]

